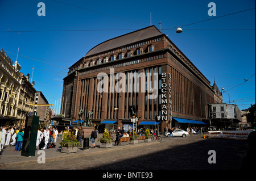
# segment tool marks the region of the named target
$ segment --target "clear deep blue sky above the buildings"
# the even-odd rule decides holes
[[[38,16],[39,2],[45,3],[46,16]],[[216,3],[216,16],[208,15],[209,2]],[[31,77],[32,66],[35,66],[32,79],[35,89],[42,91],[49,103],[57,104],[62,96],[62,79],[69,66],[102,41],[150,26],[151,12],[151,23],[159,29],[160,22],[162,29],[183,28],[180,34],[175,29],[162,32],[208,78],[211,85],[215,78],[219,89],[224,87],[227,91],[224,92],[224,102],[229,103],[230,96],[230,102],[243,110],[251,103],[255,104],[255,9],[182,26],[254,7],[254,0],[1,0],[0,47],[14,62],[19,48],[21,71]],[[243,80],[248,78],[246,82]],[[237,86],[240,83],[242,85]]]

